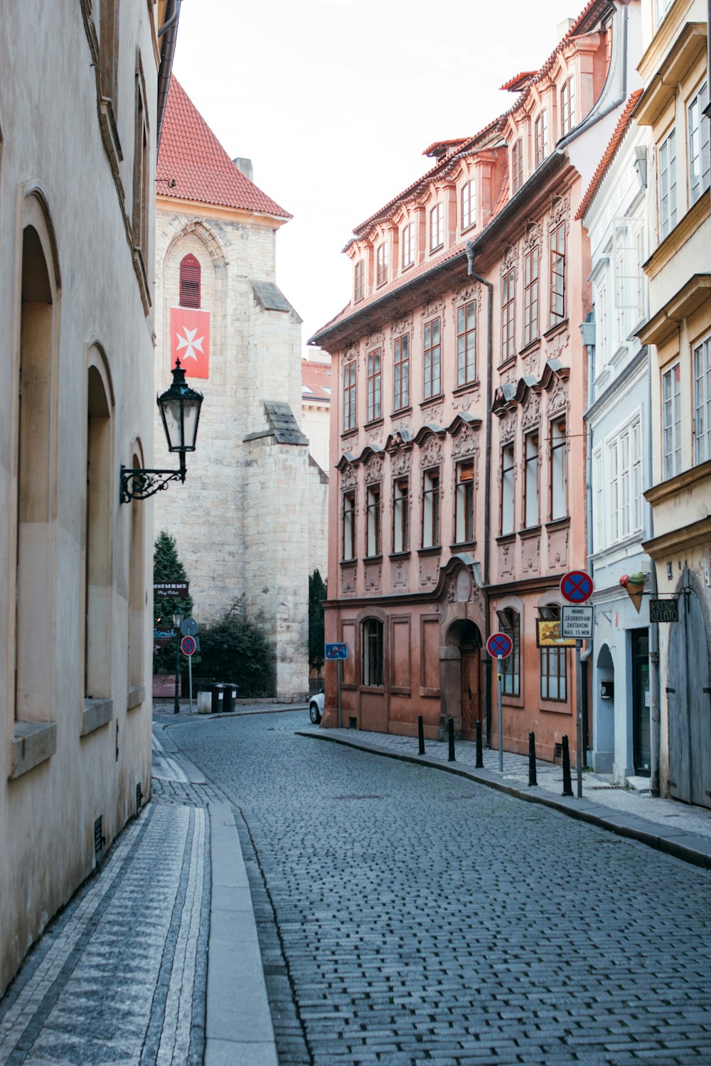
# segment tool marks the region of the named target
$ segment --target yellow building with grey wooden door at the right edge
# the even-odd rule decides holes
[[[646,0],[649,318],[653,534],[658,596],[678,621],[659,624],[660,791],[711,806],[711,210],[708,16],[705,0]],[[653,620],[653,615],[652,615]]]

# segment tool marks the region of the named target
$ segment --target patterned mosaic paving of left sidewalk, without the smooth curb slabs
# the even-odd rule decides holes
[[[203,1062],[207,790],[187,784],[171,762],[159,750],[153,802],[50,924],[0,1001],[0,1063]]]

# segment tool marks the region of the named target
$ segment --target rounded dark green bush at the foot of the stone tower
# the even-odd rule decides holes
[[[236,600],[216,621],[200,632],[200,674],[232,681],[247,691],[252,682],[274,673],[272,649],[260,623],[247,618],[244,601]]]

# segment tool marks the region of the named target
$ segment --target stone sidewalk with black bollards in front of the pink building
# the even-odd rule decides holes
[[[607,774],[584,771],[582,797],[578,798],[576,768],[571,769],[572,796],[564,796],[563,771],[555,763],[536,760],[536,786],[529,786],[529,758],[503,753],[499,771],[498,750],[485,748],[483,769],[476,769],[476,747],[471,741],[457,741],[455,761],[449,761],[449,744],[425,741],[425,754],[418,755],[418,740],[393,733],[365,732],[352,729],[323,729],[307,726],[297,730],[302,737],[349,744],[366,752],[394,759],[405,759],[460,774],[490,788],[516,795],[530,803],[545,804],[571,818],[602,826],[620,836],[666,852],[695,866],[711,869],[711,809],[691,807],[676,800],[652,798],[648,789],[614,785]],[[643,786],[643,778],[635,778]]]

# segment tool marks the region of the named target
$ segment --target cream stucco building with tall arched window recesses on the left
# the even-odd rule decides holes
[[[0,995],[150,793],[151,505],[119,479],[152,465],[175,9],[3,5]]]

